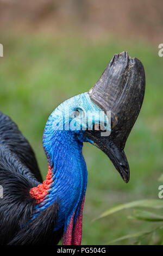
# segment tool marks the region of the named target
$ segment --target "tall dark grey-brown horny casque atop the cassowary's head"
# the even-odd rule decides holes
[[[95,86],[90,99],[103,111],[114,114],[117,124],[111,137],[123,150],[139,115],[145,94],[145,70],[137,58],[127,52],[115,54]]]

